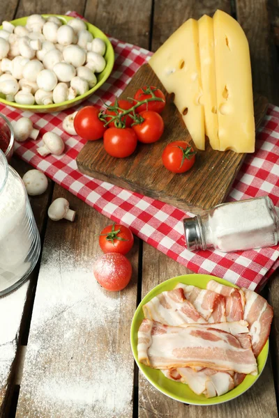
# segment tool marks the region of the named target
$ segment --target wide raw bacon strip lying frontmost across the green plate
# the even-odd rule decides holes
[[[251,349],[241,347],[238,339],[223,330],[195,325],[172,327],[144,319],[138,333],[143,341],[146,324],[152,326],[149,346],[149,327],[146,347],[139,353],[139,361],[153,369],[179,367],[209,367],[220,371],[257,374],[257,362]]]

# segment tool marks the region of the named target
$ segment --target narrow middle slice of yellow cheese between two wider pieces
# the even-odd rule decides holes
[[[202,16],[199,21],[199,57],[201,63],[202,91],[200,102],[204,105],[205,133],[213,150],[219,149],[216,99],[216,74],[214,58],[213,19]]]

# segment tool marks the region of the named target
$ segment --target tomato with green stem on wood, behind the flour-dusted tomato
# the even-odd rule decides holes
[[[133,247],[134,237],[130,229],[119,224],[106,226],[99,235],[100,249],[104,253],[127,254]]]

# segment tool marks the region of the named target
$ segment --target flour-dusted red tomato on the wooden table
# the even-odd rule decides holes
[[[132,265],[123,254],[107,253],[93,265],[93,274],[107,291],[121,291],[132,277]]]

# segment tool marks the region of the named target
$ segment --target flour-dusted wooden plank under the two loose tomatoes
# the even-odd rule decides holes
[[[128,255],[131,283],[103,290],[92,265],[102,254],[96,235],[109,221],[56,187],[59,196],[77,217],[47,225],[17,417],[132,417],[138,240]]]

